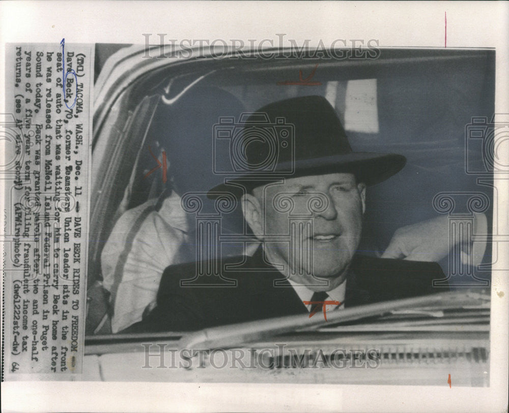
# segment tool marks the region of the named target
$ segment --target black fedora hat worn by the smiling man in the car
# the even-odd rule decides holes
[[[354,152],[336,111],[322,96],[271,103],[241,119],[243,128],[230,139],[235,176],[209,191],[209,198],[232,193],[239,198],[275,178],[336,172],[353,173],[374,185],[406,163],[395,153]]]

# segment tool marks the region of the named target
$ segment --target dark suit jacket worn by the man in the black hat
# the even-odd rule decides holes
[[[197,263],[167,267],[159,285],[156,308],[123,332],[200,330],[307,312],[284,275],[264,262],[262,248],[252,257],[225,258],[222,268],[243,259],[245,262],[237,269],[222,273],[235,280],[236,287],[214,287],[211,284],[219,278],[214,276],[200,276],[190,286],[181,287],[181,280],[195,276]],[[347,278],[345,307],[432,294],[437,292],[432,280],[444,277],[436,263],[356,255]],[[282,285],[274,287],[275,280],[281,280]],[[193,283],[206,287],[195,287]]]

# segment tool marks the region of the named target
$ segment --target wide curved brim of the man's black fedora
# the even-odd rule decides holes
[[[274,181],[274,179],[331,173],[353,173],[358,182],[375,185],[401,171],[406,161],[405,156],[397,153],[351,152],[343,155],[281,163],[278,164],[278,171],[291,172],[286,174],[282,172],[247,173],[236,178],[227,179],[225,183],[213,187],[208,192],[207,197],[216,199],[222,194],[230,193],[235,198],[240,198],[253,188]]]

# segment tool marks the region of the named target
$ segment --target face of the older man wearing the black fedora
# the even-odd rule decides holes
[[[320,200],[324,204],[313,208]],[[292,279],[299,283],[317,285],[313,275],[330,281],[328,288],[317,291],[330,290],[343,282],[359,245],[365,206],[365,185],[356,183],[353,174],[286,179],[284,184],[255,188],[253,196],[246,196],[245,201],[246,220],[257,237],[266,241],[269,260],[288,264],[293,270]],[[290,210],[285,208],[289,203],[293,204]],[[313,223],[312,230],[309,225],[299,224],[306,220]],[[288,241],[270,240],[271,235],[290,234],[292,221],[296,225],[291,247]],[[301,258],[309,248],[313,251],[311,266]]]

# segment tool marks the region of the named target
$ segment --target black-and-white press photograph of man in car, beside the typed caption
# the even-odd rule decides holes
[[[159,343],[139,339],[172,332],[221,379],[249,359],[268,380],[396,384],[454,360],[489,384],[494,53],[220,49],[175,68],[181,50],[132,46],[99,74],[86,353],[132,341],[152,376]],[[269,337],[289,348],[267,361],[216,348]]]

